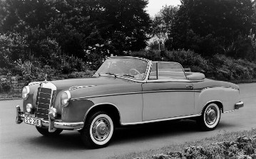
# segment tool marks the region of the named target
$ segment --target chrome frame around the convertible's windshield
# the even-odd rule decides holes
[[[104,77],[113,77],[114,76],[114,77],[121,77],[123,79],[129,79],[129,80],[132,80],[132,81],[135,81],[135,82],[146,82],[147,81],[149,70],[150,70],[150,67],[152,65],[150,60],[145,59],[143,57],[132,57],[132,56],[123,56],[123,57],[121,57],[121,56],[113,56],[113,57],[107,57],[106,60],[107,59],[111,59],[111,58],[130,58],[130,59],[144,60],[145,62],[147,62],[147,67],[146,67],[145,75],[144,75],[143,79],[136,79],[134,77],[128,77],[128,76],[125,76],[125,75],[108,75],[108,74],[100,74],[100,75],[98,75],[96,73],[93,76],[97,76],[97,77],[98,76],[104,76]]]

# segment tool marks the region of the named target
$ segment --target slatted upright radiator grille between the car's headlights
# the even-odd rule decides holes
[[[48,119],[48,111],[51,106],[51,89],[39,87],[36,96],[36,117]]]

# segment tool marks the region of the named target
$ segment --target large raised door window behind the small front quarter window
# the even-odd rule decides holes
[[[175,62],[159,62],[158,79],[186,79],[186,76],[180,64]]]

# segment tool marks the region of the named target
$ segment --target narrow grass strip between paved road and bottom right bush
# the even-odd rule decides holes
[[[212,143],[217,142],[223,142],[223,141],[235,141],[238,136],[247,136],[252,138],[252,136],[256,135],[256,128],[252,129],[251,131],[239,131],[239,132],[229,132],[229,133],[222,133],[218,134],[217,136],[213,136],[210,138],[203,138],[199,141],[193,141],[193,142],[186,142],[183,144],[170,144],[170,146],[165,146],[163,148],[159,148],[156,150],[145,150],[142,152],[134,152],[134,153],[128,153],[126,155],[116,155],[113,157],[110,157],[108,159],[116,159],[116,158],[122,158],[122,159],[132,159],[132,158],[150,158],[152,159],[153,155],[156,154],[167,154],[174,151],[179,151],[181,153],[184,153],[184,149],[189,146],[210,146]]]

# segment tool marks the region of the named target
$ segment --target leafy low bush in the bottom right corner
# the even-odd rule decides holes
[[[256,136],[248,138],[239,136],[235,141],[212,143],[209,146],[190,146],[184,148],[184,153],[170,152],[153,155],[154,159],[163,158],[256,158]]]

